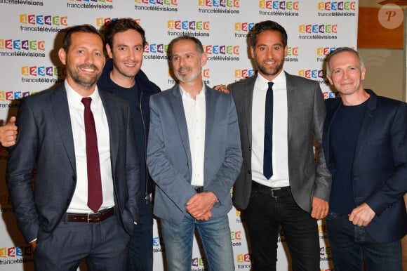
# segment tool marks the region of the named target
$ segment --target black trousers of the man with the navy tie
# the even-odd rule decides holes
[[[291,253],[293,271],[319,271],[316,220],[295,204],[289,188],[272,196],[268,187],[253,182],[251,199],[243,211],[253,271],[276,270],[279,225]]]

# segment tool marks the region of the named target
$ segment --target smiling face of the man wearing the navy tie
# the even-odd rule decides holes
[[[251,47],[251,56],[260,74],[269,81],[276,78],[283,70],[286,55],[287,46],[283,47],[280,32],[274,30],[259,33],[255,46]]]

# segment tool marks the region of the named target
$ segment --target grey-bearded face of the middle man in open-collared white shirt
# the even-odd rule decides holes
[[[173,44],[173,72],[181,83],[201,82],[201,69],[206,64],[206,59],[206,53],[199,53],[194,41],[184,39]]]

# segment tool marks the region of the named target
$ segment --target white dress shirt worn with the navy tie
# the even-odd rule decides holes
[[[253,90],[252,107],[252,178],[269,187],[290,185],[288,176],[288,109],[286,74],[281,72],[273,80],[273,176],[263,175],[265,138],[265,101],[268,81],[259,73]]]

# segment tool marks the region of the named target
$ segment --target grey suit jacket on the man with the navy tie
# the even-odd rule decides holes
[[[251,196],[251,140],[253,89],[256,74],[229,86],[236,104],[241,136],[243,166],[236,180],[235,204],[246,209]],[[312,209],[312,197],[328,201],[331,174],[326,167],[322,147],[325,105],[316,81],[286,73],[288,103],[288,173],[295,202],[305,211]],[[318,146],[318,164],[314,162],[313,137]]]

